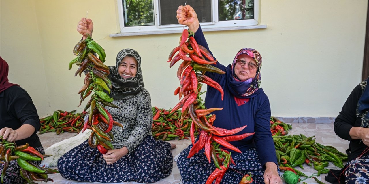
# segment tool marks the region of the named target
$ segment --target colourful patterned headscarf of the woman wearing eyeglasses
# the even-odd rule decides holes
[[[253,58],[258,64],[258,69],[256,70],[255,78],[247,79],[246,81],[240,81],[235,77],[234,66],[236,64],[236,60],[238,56],[241,54],[247,54],[251,58]],[[262,58],[258,51],[255,49],[244,48],[238,51],[236,56],[233,59],[232,65],[227,67],[227,78],[228,78],[228,88],[231,93],[237,98],[252,98],[255,96],[258,91],[259,86],[261,84],[261,64]]]

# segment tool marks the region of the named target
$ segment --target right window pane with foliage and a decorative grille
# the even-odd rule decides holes
[[[254,0],[218,0],[219,21],[254,18]]]

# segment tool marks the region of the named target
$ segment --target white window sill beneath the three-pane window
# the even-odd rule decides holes
[[[201,29],[206,31],[229,31],[229,30],[240,30],[240,29],[266,29],[266,25],[252,25],[252,26],[237,26],[237,27],[218,27],[218,28],[206,28],[206,26],[201,26]],[[131,33],[115,33],[110,34],[110,37],[119,36],[138,36],[138,35],[158,35],[158,34],[171,34],[171,33],[181,33],[182,29],[179,30],[168,30],[168,31],[148,31],[148,32],[131,32]]]

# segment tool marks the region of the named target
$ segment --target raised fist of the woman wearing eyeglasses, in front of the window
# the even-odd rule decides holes
[[[178,24],[187,25],[192,32],[199,29],[200,23],[195,10],[190,5],[179,6],[177,10]]]

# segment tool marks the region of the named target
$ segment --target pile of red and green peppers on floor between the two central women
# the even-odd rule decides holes
[[[171,109],[152,107],[152,136],[156,140],[169,141],[175,138],[188,139],[192,119],[182,116],[181,110],[170,112]],[[194,133],[197,136],[197,132]]]

